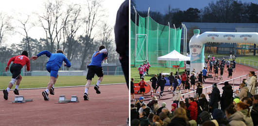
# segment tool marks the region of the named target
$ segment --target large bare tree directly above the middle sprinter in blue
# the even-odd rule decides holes
[[[57,48],[59,48],[60,37],[58,39],[58,34],[62,29],[62,25],[58,24],[61,22],[60,18],[62,16],[62,1],[55,0],[55,2],[47,1],[44,3],[44,13],[43,15],[38,15],[41,27],[43,27],[46,34],[46,44],[50,52],[54,51],[55,40],[57,40]],[[60,35],[59,35],[60,36]]]

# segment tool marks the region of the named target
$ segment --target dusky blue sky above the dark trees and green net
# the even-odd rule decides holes
[[[172,8],[180,8],[181,11],[186,11],[189,7],[203,9],[205,6],[217,0],[135,0],[136,11],[159,11],[162,14],[165,13],[165,8],[167,9],[170,4]],[[244,2],[258,3],[258,0],[240,0]]]

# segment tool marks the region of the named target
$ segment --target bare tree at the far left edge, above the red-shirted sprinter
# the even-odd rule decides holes
[[[11,16],[0,12],[0,45],[3,43],[5,37],[14,30],[11,20]]]

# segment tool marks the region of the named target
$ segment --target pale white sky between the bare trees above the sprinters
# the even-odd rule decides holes
[[[0,12],[4,12],[12,16],[15,16],[12,12],[20,12],[23,14],[31,14],[32,12],[39,12],[41,9],[40,7],[42,7],[43,1],[45,0],[1,0]],[[66,0],[66,1],[79,3],[79,4],[82,2],[86,2],[85,0]],[[105,14],[109,16],[109,18],[107,19],[107,22],[110,22],[111,26],[114,26],[117,10],[124,1],[125,0],[103,0],[102,6],[103,6],[103,9],[106,10]],[[38,18],[35,16],[35,19],[38,19]],[[37,39],[39,39],[41,36],[44,37],[45,36],[44,32],[43,34],[42,33],[38,34],[38,31],[40,31],[39,29],[40,28],[38,27],[34,27],[29,32],[29,36]],[[11,36],[8,37],[7,44],[10,45],[11,43],[19,43],[22,38],[23,36],[17,33],[12,37]]]

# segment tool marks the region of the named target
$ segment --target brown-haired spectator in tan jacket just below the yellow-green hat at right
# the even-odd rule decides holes
[[[244,122],[246,126],[254,126],[253,120],[250,115],[250,108],[248,105],[245,105],[244,103],[240,102],[235,107],[237,111],[240,111],[244,115]]]

